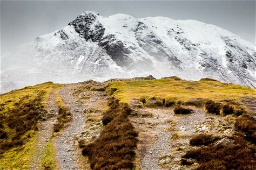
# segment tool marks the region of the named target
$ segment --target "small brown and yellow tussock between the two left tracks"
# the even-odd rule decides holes
[[[59,132],[71,121],[72,117],[69,109],[66,107],[66,104],[62,101],[62,97],[60,97],[59,94],[56,94],[56,101],[59,107],[58,122],[54,125],[53,130]]]

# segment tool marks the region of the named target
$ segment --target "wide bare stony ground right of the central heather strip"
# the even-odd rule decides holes
[[[203,109],[193,110],[190,115],[175,115],[173,108],[137,110],[139,115],[131,117],[131,122],[139,131],[137,163],[140,169],[188,168],[179,161],[184,150],[190,147],[190,138],[210,130],[204,123],[211,117],[216,121],[221,119],[220,116],[205,114]],[[176,151],[179,147],[183,151]]]

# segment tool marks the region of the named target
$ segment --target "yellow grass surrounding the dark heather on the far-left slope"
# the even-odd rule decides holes
[[[31,101],[38,97],[40,91],[42,93],[42,104],[45,107],[49,94],[58,88],[61,88],[62,84],[54,84],[52,82],[46,82],[42,84],[37,84],[36,86],[29,86],[19,90],[12,90],[9,93],[0,95],[0,116],[8,114],[8,110],[15,108],[15,103],[17,103],[21,98],[24,98],[24,102]],[[26,96],[26,97],[24,97]],[[12,129],[8,125],[4,125],[4,130],[11,136]],[[7,152],[3,153],[0,157],[0,169],[3,168],[14,168],[14,169],[28,169],[31,161],[31,155],[35,151],[32,149],[36,141],[36,131],[30,130],[24,134],[21,138],[24,138],[25,144],[22,146],[16,146],[11,148]],[[29,134],[29,140],[27,141],[27,136]],[[0,139],[5,140],[5,139]]]

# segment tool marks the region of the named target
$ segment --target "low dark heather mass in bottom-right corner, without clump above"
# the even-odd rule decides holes
[[[255,148],[237,136],[229,145],[208,145],[186,152],[183,158],[196,159],[197,169],[255,169]]]

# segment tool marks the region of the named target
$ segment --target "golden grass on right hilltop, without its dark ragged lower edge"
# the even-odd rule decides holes
[[[159,97],[165,100],[190,101],[196,98],[240,102],[241,97],[256,97],[256,90],[219,81],[176,81],[173,79],[110,82],[107,91],[117,89],[113,95],[121,102],[133,98]]]

